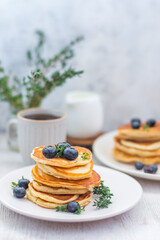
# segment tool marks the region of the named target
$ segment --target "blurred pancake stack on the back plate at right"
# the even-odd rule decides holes
[[[113,154],[118,161],[145,165],[160,162],[160,123],[154,127],[141,123],[139,129],[133,129],[131,124],[123,125],[118,128],[114,142]]]

